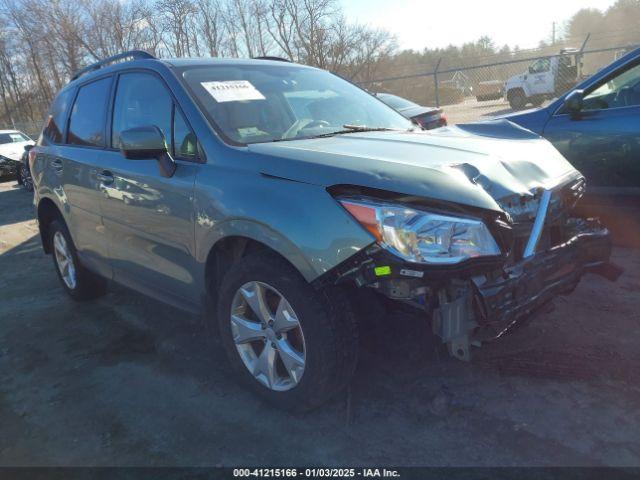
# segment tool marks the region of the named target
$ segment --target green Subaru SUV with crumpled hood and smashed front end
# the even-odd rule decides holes
[[[616,275],[547,141],[505,121],[425,132],[277,59],[99,62],[57,95],[29,162],[74,299],[110,280],[202,312],[238,379],[283,408],[349,382],[369,300],[414,307],[467,360],[586,271]]]

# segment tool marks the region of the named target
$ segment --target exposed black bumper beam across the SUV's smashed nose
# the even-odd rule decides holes
[[[615,280],[621,269],[609,263],[609,231],[594,220],[578,220],[563,244],[505,267],[474,276],[456,298],[433,312],[433,330],[453,356],[470,358],[470,345],[497,338],[559,294],[571,292],[583,274]]]

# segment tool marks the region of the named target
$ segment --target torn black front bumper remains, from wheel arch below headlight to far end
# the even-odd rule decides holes
[[[562,238],[519,260],[486,257],[447,268],[406,263],[374,244],[316,287],[348,281],[416,307],[454,357],[470,360],[471,346],[500,337],[557,295],[571,292],[585,273],[610,280],[621,273],[609,263],[611,237],[597,220],[568,219]]]

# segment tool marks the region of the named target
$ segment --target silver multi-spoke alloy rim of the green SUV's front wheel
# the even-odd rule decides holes
[[[287,299],[263,282],[247,282],[231,304],[231,333],[238,354],[265,387],[286,391],[304,373],[306,348],[302,326]]]

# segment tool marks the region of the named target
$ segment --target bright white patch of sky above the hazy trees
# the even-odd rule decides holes
[[[340,0],[347,18],[394,33],[400,48],[460,45],[489,35],[498,45],[536,47],[581,8],[614,0]],[[535,8],[534,8],[535,7]]]

